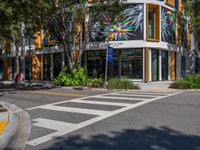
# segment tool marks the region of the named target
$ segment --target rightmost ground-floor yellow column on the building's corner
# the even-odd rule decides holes
[[[175,52],[170,53],[170,78],[172,81],[176,80],[176,61],[175,61]]]

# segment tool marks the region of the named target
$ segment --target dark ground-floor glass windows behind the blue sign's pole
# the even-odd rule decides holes
[[[87,69],[91,77],[104,77],[106,51],[87,52]],[[114,50],[113,63],[108,64],[108,76],[126,76],[131,79],[143,77],[143,50]]]

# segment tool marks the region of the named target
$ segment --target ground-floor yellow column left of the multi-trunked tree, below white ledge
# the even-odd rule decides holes
[[[32,57],[32,78],[33,80],[41,79],[41,56],[33,55]]]

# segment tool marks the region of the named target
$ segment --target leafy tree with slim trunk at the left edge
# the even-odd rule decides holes
[[[0,0],[0,38],[15,45],[16,74],[19,74],[19,47],[24,47],[22,40],[32,36],[41,22],[39,6],[33,0]],[[23,55],[25,50],[21,52]]]

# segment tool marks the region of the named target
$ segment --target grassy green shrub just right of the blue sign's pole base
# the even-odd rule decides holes
[[[128,78],[111,78],[108,81],[108,89],[140,89],[139,86],[134,85]]]

